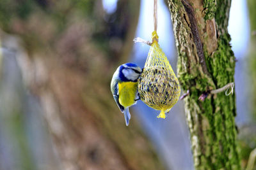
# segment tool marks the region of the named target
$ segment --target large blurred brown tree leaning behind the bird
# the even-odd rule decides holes
[[[127,62],[140,1],[0,1],[0,27],[24,41],[22,76],[40,98],[61,169],[163,169],[132,119],[125,127],[109,90]]]

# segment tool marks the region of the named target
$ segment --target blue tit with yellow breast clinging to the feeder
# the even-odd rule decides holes
[[[125,124],[129,125],[131,114],[129,107],[136,104],[138,94],[138,78],[141,68],[133,63],[119,66],[111,80],[111,92],[118,108],[124,113]]]

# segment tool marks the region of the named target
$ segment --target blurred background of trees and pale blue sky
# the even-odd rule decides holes
[[[236,123],[242,166],[256,147],[256,3],[233,0]],[[176,72],[167,1],[159,44]],[[193,169],[182,101],[157,119],[138,101],[125,126],[110,92],[116,67],[143,67],[153,1],[0,0],[0,169]]]

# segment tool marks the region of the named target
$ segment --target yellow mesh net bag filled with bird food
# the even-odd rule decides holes
[[[152,45],[138,79],[138,92],[141,101],[161,111],[157,118],[165,118],[165,113],[179,100],[180,85],[157,39],[156,31],[152,32]]]

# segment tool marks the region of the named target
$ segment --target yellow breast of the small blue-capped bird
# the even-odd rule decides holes
[[[125,108],[135,103],[138,82],[120,82],[118,83],[119,103]]]

